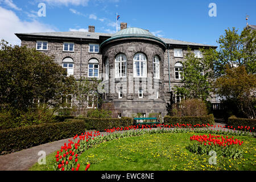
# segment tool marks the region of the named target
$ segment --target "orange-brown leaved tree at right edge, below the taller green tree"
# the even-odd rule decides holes
[[[214,88],[219,96],[236,105],[247,118],[255,118],[256,75],[248,74],[245,66],[233,69],[226,66],[225,75],[217,78]]]

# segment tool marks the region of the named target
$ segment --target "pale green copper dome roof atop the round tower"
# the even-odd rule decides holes
[[[157,40],[158,42],[164,44],[166,46],[166,43],[164,43],[161,39],[151,34],[151,32],[144,30],[142,28],[125,28],[121,31],[118,31],[117,33],[113,34],[113,36],[107,40],[105,40],[101,46],[103,46],[105,43],[110,42],[111,40],[117,40],[117,39],[123,39],[123,38],[147,38],[147,39],[153,39]]]

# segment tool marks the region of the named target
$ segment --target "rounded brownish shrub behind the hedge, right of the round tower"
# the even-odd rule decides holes
[[[207,105],[205,102],[198,99],[188,99],[181,101],[180,104],[174,104],[171,112],[171,115],[174,117],[198,117],[207,114]]]

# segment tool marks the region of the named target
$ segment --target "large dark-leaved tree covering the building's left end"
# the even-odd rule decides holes
[[[61,97],[73,92],[75,78],[54,63],[53,57],[27,47],[9,46],[2,40],[0,49],[1,109],[26,111],[40,100],[57,107]]]

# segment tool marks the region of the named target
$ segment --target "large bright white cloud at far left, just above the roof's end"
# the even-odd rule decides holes
[[[15,33],[32,33],[32,32],[54,32],[55,28],[47,24],[32,20],[31,22],[22,21],[11,10],[0,7],[0,39],[5,39],[13,45],[20,45],[20,39]]]

